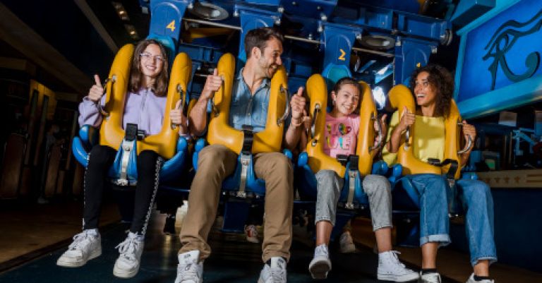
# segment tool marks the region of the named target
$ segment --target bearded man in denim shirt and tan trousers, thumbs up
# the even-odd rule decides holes
[[[241,129],[243,124],[263,131],[267,120],[270,79],[282,64],[283,36],[272,28],[258,28],[245,38],[246,65],[239,71],[232,89],[229,125]],[[207,77],[198,102],[190,114],[191,132],[205,133],[207,104],[222,79],[217,70]],[[291,124],[284,135],[286,147],[293,148],[299,139],[305,99],[303,89],[291,99]],[[297,126],[296,126],[297,125]],[[202,282],[203,261],[211,249],[207,236],[217,214],[219,193],[224,178],[234,172],[237,155],[223,145],[210,145],[201,150],[198,171],[192,182],[188,207],[181,229],[179,267],[176,283]],[[286,263],[291,246],[291,212],[293,205],[293,169],[291,162],[280,152],[259,153],[253,157],[256,176],[265,180],[265,233],[259,283],[286,282]]]

